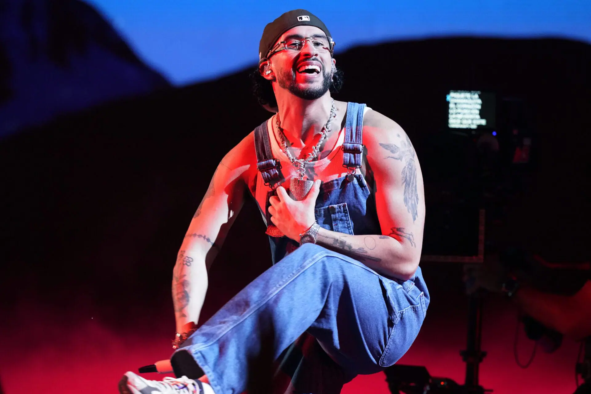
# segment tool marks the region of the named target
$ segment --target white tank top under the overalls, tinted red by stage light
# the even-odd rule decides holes
[[[363,115],[371,108],[365,107],[363,110]],[[267,120],[267,130],[269,133],[269,142],[271,143],[271,152],[275,159],[278,159],[281,162],[281,174],[284,176],[285,180],[290,180],[291,178],[298,177],[298,171],[296,167],[294,167],[290,159],[287,158],[287,155],[283,152],[280,147],[279,141],[277,141],[277,136],[273,132],[271,120],[273,118]],[[340,148],[343,145],[343,141],[345,141],[345,128],[343,127],[339,131],[339,137],[336,139],[335,146],[330,149],[330,153],[317,161],[311,161],[306,164],[306,168],[310,168],[311,172],[314,174],[313,178],[309,178],[311,181],[320,179],[323,182],[332,181],[333,179],[344,177],[347,175],[347,168],[343,167],[343,151]],[[325,146],[326,148],[326,146]],[[310,171],[306,171],[307,174]],[[359,168],[355,170],[356,174],[359,174]],[[285,187],[285,183],[283,183]],[[287,187],[289,187],[289,182],[287,182]],[[261,174],[258,174],[256,177],[256,190],[255,190],[255,200],[256,204],[261,210],[261,214],[263,220],[265,221],[265,226],[267,225],[267,220],[265,219],[265,208],[267,204],[267,195],[271,191],[271,187],[265,186],[265,182],[261,177]]]

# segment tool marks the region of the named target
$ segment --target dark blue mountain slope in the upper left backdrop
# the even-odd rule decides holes
[[[0,4],[0,138],[62,113],[168,86],[85,2]]]

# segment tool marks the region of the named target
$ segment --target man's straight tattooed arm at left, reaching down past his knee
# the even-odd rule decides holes
[[[178,332],[188,331],[199,320],[207,292],[207,269],[242,207],[252,167],[249,161],[254,155],[252,139],[251,133],[217,166],[184,236],[173,269],[172,284]],[[250,151],[253,151],[252,155]]]

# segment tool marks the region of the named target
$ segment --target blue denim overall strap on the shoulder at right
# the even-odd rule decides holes
[[[343,142],[343,167],[350,170],[361,167],[363,152],[363,110],[365,104],[347,104],[345,141]]]

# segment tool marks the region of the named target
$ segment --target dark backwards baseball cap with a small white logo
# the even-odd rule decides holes
[[[287,11],[265,26],[259,43],[259,60],[267,56],[271,48],[279,40],[279,37],[281,37],[281,34],[296,26],[316,26],[326,34],[326,37],[332,37],[326,25],[310,11],[305,9]]]

